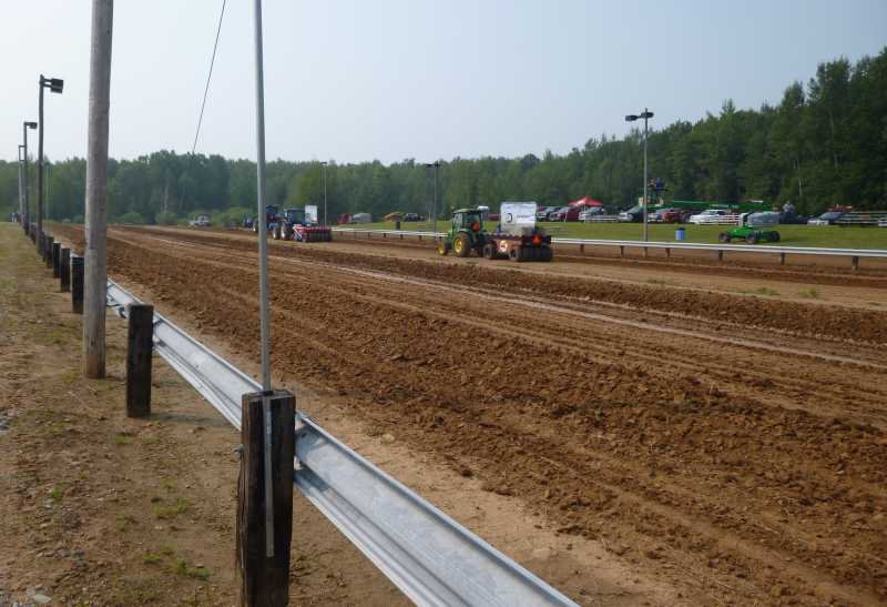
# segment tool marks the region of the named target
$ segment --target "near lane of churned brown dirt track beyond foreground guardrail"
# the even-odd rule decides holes
[[[603,546],[663,603],[887,601],[877,279],[860,289],[879,299],[853,307],[347,246],[271,254],[278,370]],[[257,356],[249,236],[114,230],[109,266]]]

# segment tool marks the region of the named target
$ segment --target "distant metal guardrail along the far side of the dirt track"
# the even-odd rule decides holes
[[[417,236],[439,239],[443,236],[443,232],[411,232],[407,230],[373,230],[359,227],[334,227],[334,232],[339,233],[354,233],[367,234],[370,237],[373,234],[379,234],[383,237],[389,235],[400,236]],[[570,244],[577,245],[580,250],[585,246],[619,246],[620,254],[624,256],[625,249],[643,249],[644,252],[649,249],[664,250],[669,254],[672,250],[682,251],[713,251],[717,253],[717,259],[723,260],[725,252],[734,253],[771,253],[779,255],[781,263],[785,263],[786,255],[827,255],[827,256],[843,256],[850,257],[853,269],[859,266],[859,260],[865,257],[870,259],[887,259],[887,250],[885,249],[826,249],[814,246],[785,246],[785,245],[751,245],[751,244],[701,244],[692,242],[653,242],[653,241],[615,241],[606,239],[563,239],[552,237],[552,244]]]

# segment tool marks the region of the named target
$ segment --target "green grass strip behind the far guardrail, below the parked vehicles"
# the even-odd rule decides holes
[[[643,225],[639,223],[551,223],[540,224],[552,236],[572,239],[605,240],[643,240]],[[373,230],[394,230],[392,222],[375,222],[355,225]],[[439,221],[438,231],[447,227],[447,222]],[[487,222],[487,230],[495,230],[496,222]],[[650,240],[673,242],[674,224],[650,224]],[[727,229],[725,225],[684,225],[686,242],[716,243],[717,234]],[[408,222],[401,224],[402,230],[431,230],[430,222]],[[827,246],[833,249],[887,249],[887,229],[884,227],[838,227],[813,225],[779,225],[776,227],[782,236],[778,244],[788,246]],[[737,241],[740,244],[742,241]]]

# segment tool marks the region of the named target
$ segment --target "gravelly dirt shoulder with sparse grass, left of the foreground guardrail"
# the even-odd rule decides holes
[[[160,357],[152,417],[126,418],[125,323],[85,380],[58,290],[0,224],[0,606],[235,605],[238,434]],[[300,496],[294,529],[294,605],[408,605]]]

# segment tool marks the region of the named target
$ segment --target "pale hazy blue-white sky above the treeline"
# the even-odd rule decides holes
[[[654,124],[887,44],[887,0],[265,0],[267,155],[384,162],[565,152],[645,104]],[[221,0],[118,0],[111,154],[194,138]],[[197,150],[255,156],[252,0],[228,0]],[[47,92],[45,149],[84,155],[88,0],[0,0],[0,158]],[[35,142],[35,138],[32,138]],[[35,148],[34,148],[35,150]]]

